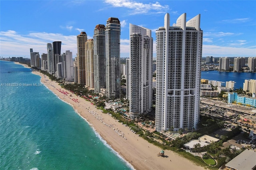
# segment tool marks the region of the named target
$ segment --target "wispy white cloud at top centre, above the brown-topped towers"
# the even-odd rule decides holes
[[[106,3],[114,7],[129,8],[132,11],[131,15],[134,14],[148,14],[148,13],[166,13],[170,10],[168,5],[161,5],[159,2],[143,4],[132,0],[105,0]]]

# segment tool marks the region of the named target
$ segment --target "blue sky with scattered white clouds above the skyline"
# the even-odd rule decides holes
[[[121,57],[129,57],[129,23],[155,30],[186,13],[201,14],[202,57],[256,57],[255,0],[0,0],[0,56],[30,57],[30,48],[47,53],[46,44],[61,41],[61,52],[76,57],[76,36],[93,37],[97,24],[109,17],[121,22]]]

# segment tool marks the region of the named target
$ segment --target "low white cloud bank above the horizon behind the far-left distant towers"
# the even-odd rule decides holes
[[[53,34],[46,32],[33,32],[27,35],[19,35],[16,31],[8,30],[6,32],[0,32],[0,56],[26,56],[30,57],[30,48],[34,51],[47,53],[47,43],[54,41],[61,41],[62,47],[61,52],[64,53],[66,50],[73,52],[73,57],[76,56],[76,36],[64,36],[62,34]]]

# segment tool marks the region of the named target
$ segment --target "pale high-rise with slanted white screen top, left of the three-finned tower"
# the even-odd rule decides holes
[[[148,113],[152,107],[152,57],[151,30],[130,24],[130,60],[126,94],[130,100],[130,117]]]

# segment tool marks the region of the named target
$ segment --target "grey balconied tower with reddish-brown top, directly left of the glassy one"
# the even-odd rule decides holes
[[[96,25],[93,35],[93,66],[94,66],[94,93],[100,93],[101,88],[106,88],[105,64],[105,26]]]

